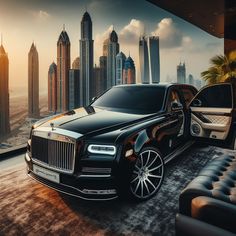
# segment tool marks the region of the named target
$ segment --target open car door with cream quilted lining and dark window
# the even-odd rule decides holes
[[[236,149],[232,84],[204,87],[190,104],[190,135],[210,145]]]

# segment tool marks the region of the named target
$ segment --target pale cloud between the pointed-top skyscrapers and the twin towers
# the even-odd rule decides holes
[[[140,20],[132,19],[130,23],[120,31],[119,41],[125,44],[138,43],[140,35],[144,33],[144,23]]]

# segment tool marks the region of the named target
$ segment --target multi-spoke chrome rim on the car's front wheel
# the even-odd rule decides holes
[[[130,189],[140,199],[149,198],[162,183],[164,163],[160,154],[145,150],[139,154],[131,176]]]

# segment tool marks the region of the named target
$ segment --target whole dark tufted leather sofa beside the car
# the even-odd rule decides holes
[[[236,156],[215,158],[182,191],[176,235],[236,235]]]

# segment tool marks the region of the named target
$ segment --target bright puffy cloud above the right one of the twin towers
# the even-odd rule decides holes
[[[162,48],[181,47],[184,40],[183,33],[176,27],[171,18],[162,19],[151,34],[159,36],[160,47]]]

